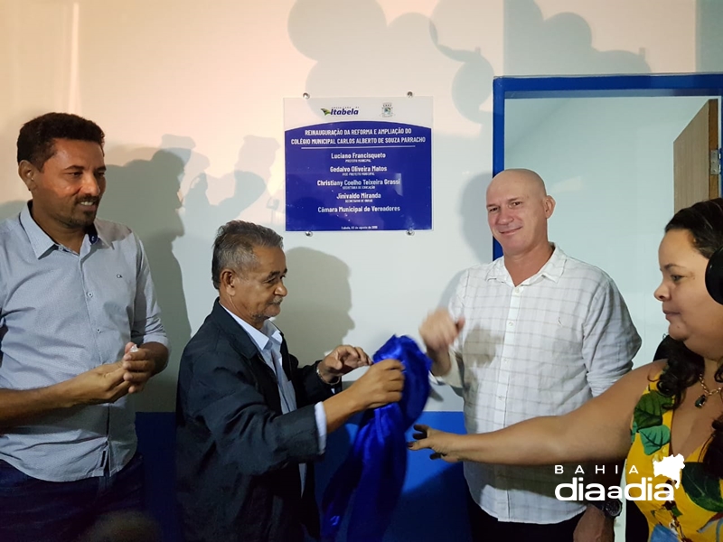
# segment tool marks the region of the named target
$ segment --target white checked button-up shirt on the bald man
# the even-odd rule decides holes
[[[502,257],[468,269],[449,310],[465,316],[453,361],[470,434],[567,414],[630,370],[640,348],[613,280],[560,248],[517,286]],[[502,521],[559,523],[585,508],[555,498],[569,477],[551,465],[465,463],[465,478],[475,502]]]

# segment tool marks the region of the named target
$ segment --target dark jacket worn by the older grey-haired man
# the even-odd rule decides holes
[[[217,299],[181,358],[176,402],[176,494],[188,542],[296,542],[318,534],[313,472],[320,456],[314,404],[332,389],[281,346],[296,389],[282,415],[277,380]]]

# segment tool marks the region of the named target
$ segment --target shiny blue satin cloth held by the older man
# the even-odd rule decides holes
[[[389,527],[407,473],[405,433],[422,414],[429,396],[432,361],[407,336],[392,336],[372,360],[395,359],[404,366],[399,403],[368,410],[362,416],[352,451],[324,491],[322,540],[333,542],[353,494],[348,542],[380,542]]]

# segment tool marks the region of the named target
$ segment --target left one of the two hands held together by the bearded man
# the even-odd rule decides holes
[[[87,370],[61,384],[66,388],[61,397],[67,400],[65,406],[114,403],[131,387],[124,379],[125,374],[122,361]]]

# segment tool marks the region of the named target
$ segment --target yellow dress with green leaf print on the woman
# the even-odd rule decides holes
[[[648,385],[637,406],[632,426],[633,444],[627,455],[625,482],[670,484],[671,500],[636,500],[648,520],[649,542],[673,540],[702,542],[723,540],[723,484],[703,469],[706,444],[685,458],[680,482],[655,476],[654,463],[670,455],[672,398],[658,391],[657,379]],[[633,471],[633,472],[631,472]],[[677,486],[677,487],[676,487]],[[669,492],[669,491],[666,491]],[[663,493],[658,493],[662,495]],[[635,493],[637,495],[637,493]],[[650,493],[646,491],[646,496]]]

